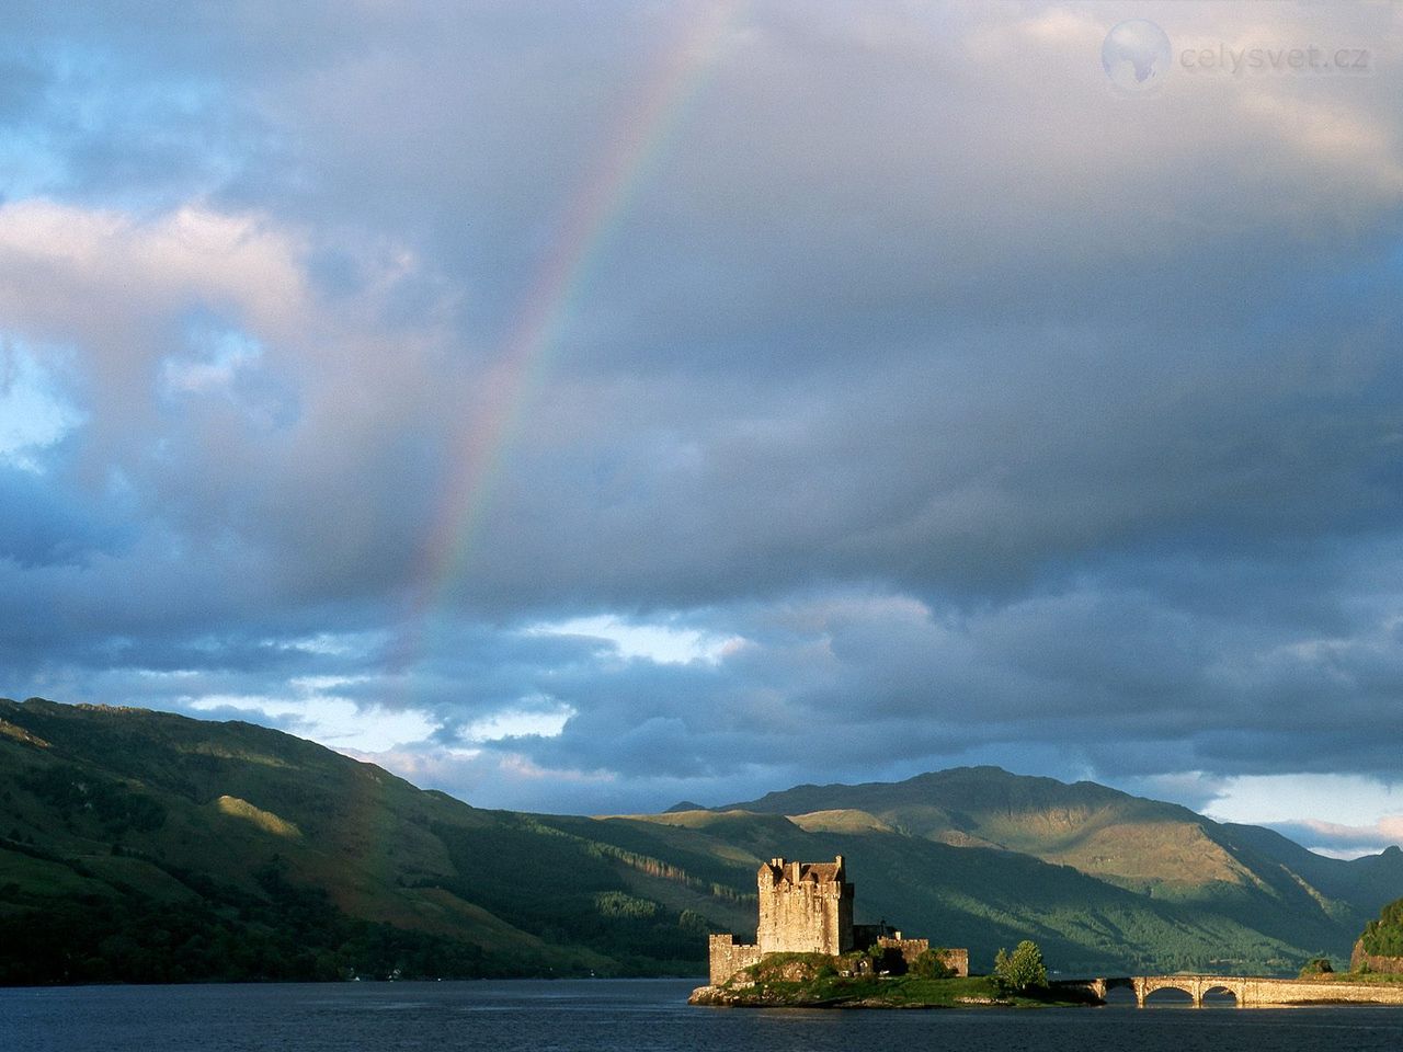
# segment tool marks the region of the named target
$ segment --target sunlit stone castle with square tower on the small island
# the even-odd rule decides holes
[[[735,936],[711,936],[711,985],[720,986],[766,954],[828,954],[881,950],[882,957],[909,965],[930,948],[925,938],[902,938],[885,924],[853,924],[853,885],[847,882],[843,856],[831,863],[791,863],[770,858],[756,872],[759,924],[755,943]],[[946,950],[947,965],[969,975],[969,952]]]

